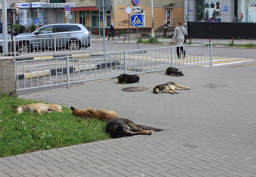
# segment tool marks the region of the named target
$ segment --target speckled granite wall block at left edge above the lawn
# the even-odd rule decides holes
[[[15,59],[0,57],[0,92],[16,95]]]

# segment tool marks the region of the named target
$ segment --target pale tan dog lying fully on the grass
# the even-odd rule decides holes
[[[36,112],[37,114],[51,113],[51,111],[62,112],[59,104],[32,103],[12,107],[14,108],[14,112],[17,112],[18,114],[22,113],[23,111],[28,111],[31,113]]]

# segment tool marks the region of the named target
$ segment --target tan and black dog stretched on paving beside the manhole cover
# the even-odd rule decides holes
[[[170,94],[176,93],[176,94],[178,94],[179,92],[176,91],[175,89],[176,90],[179,90],[179,89],[188,90],[190,88],[186,87],[186,86],[181,86],[176,82],[167,82],[167,83],[155,86],[153,89],[153,92],[155,94],[159,94],[159,93],[170,93]]]

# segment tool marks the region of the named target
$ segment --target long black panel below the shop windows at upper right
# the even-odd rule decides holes
[[[256,39],[256,23],[188,22],[191,38]]]

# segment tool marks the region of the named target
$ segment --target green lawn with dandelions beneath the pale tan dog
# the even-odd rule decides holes
[[[0,157],[111,138],[104,131],[107,122],[76,118],[67,107],[62,106],[63,113],[17,114],[12,105],[36,101],[0,94],[0,103]]]

